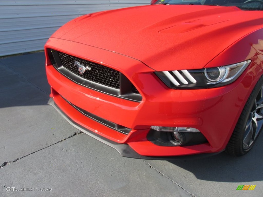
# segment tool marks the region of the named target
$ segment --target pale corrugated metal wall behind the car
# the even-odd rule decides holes
[[[49,36],[80,15],[150,0],[0,0],[0,56],[42,50]]]

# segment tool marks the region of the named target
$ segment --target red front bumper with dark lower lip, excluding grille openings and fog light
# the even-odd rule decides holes
[[[53,101],[50,103],[60,113],[63,112],[64,118],[75,127],[117,149],[125,157],[169,159],[223,151],[257,81],[256,74],[261,72],[252,63],[230,85],[202,90],[173,90],[155,76],[154,70],[130,57],[55,38],[49,39],[45,45],[47,48],[103,62],[122,72],[136,86],[143,97],[141,102],[89,89],[60,74],[50,64],[46,53],[47,78],[52,87],[50,97],[55,104]],[[80,113],[63,98],[105,120],[131,128],[131,131],[123,134],[102,125]],[[184,147],[157,146],[147,139],[150,126],[193,127],[205,136],[208,143]]]

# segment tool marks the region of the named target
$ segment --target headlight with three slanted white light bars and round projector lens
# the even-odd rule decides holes
[[[250,64],[250,60],[198,70],[173,70],[155,72],[155,74],[173,89],[212,88],[234,82]]]

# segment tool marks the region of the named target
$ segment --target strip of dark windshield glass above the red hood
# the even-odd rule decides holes
[[[236,6],[242,10],[263,10],[263,0],[158,0],[155,4]]]

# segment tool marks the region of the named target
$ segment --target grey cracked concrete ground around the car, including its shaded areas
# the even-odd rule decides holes
[[[43,52],[0,59],[0,196],[263,196],[263,135],[237,158],[124,158],[47,105],[44,64]]]

